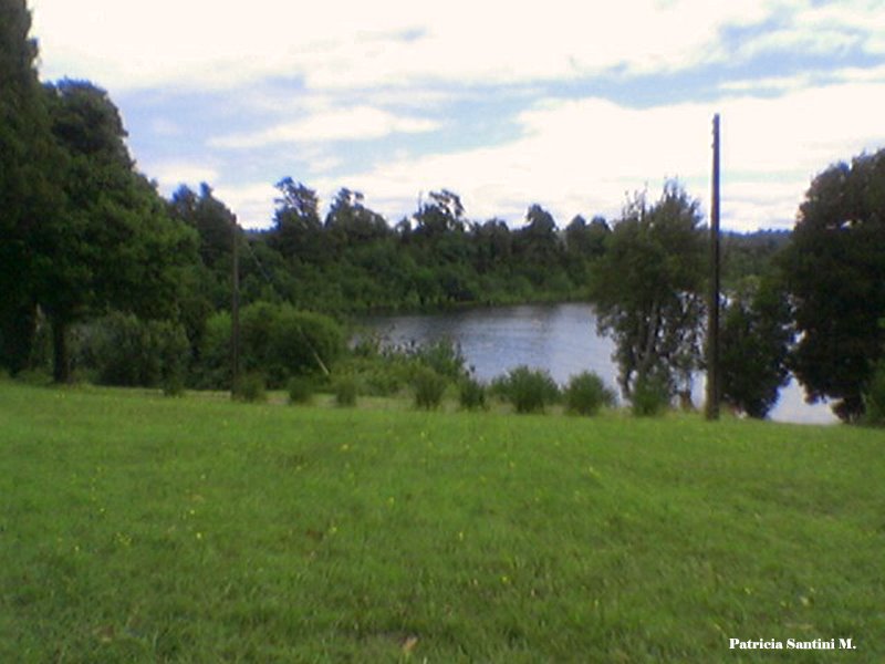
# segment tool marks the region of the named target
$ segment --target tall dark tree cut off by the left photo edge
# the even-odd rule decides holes
[[[0,365],[24,367],[34,335],[29,234],[60,203],[58,155],[24,0],[0,0]]]

